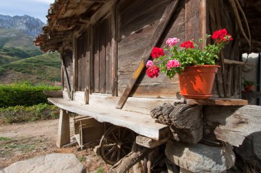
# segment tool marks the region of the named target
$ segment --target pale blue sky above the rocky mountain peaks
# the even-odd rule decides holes
[[[25,14],[39,18],[46,23],[50,3],[54,0],[0,0],[0,14],[23,16]]]

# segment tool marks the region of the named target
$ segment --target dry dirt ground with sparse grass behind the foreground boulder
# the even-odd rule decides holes
[[[73,121],[71,122],[71,134]],[[77,151],[76,146],[71,148],[57,148],[56,134],[58,120],[44,120],[23,124],[0,124],[0,170],[20,160],[45,155],[52,152],[73,153],[84,165],[87,172],[103,170],[107,172],[106,165],[93,150]]]

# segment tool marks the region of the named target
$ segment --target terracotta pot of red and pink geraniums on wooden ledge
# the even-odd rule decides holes
[[[220,49],[233,40],[226,29],[215,31],[212,36],[207,35],[205,42],[209,37],[214,39],[214,44],[208,44],[203,48],[194,40],[179,44],[178,38],[168,38],[165,46],[168,55],[158,47],[152,50],[153,61],[148,60],[146,63],[148,77],[158,77],[160,72],[166,72],[172,79],[178,73],[181,96],[194,99],[209,98],[212,96],[214,77],[220,67],[216,66]],[[198,40],[199,43],[203,41]]]

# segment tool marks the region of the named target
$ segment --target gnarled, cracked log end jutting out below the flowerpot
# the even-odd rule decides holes
[[[201,105],[164,103],[150,111],[157,122],[170,125],[172,137],[180,142],[198,143],[203,137]]]

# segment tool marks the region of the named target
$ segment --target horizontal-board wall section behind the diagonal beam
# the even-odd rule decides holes
[[[139,59],[141,59],[141,55],[144,53],[168,3],[169,1],[167,0],[156,0],[153,3],[148,0],[120,1],[120,36],[118,42],[119,96],[121,96],[133,72],[139,65]],[[185,10],[184,3],[180,3],[157,46],[165,46],[166,39],[174,36],[183,40],[184,31]],[[177,77],[170,80],[165,74],[162,74],[155,79],[150,79],[146,76],[144,70],[131,96],[175,98],[178,91],[179,83]]]

